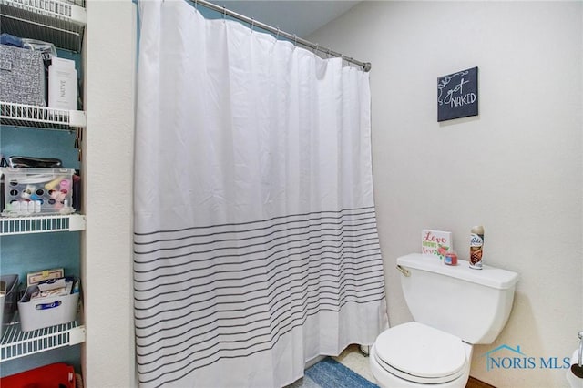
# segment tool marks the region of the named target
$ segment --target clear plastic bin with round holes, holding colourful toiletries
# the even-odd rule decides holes
[[[0,168],[4,182],[3,216],[69,214],[72,206],[72,168]]]

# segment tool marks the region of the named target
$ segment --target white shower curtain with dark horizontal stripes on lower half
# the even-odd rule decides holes
[[[143,387],[279,387],[387,326],[368,74],[184,1],[140,7]]]

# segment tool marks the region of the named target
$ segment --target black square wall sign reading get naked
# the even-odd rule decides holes
[[[477,67],[437,78],[437,121],[477,116]]]

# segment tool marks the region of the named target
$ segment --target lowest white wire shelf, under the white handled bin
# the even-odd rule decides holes
[[[20,323],[5,326],[0,341],[0,360],[7,361],[38,352],[85,342],[85,326],[77,321],[58,324],[32,332],[22,332]]]

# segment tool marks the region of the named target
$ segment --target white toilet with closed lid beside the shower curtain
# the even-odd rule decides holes
[[[414,322],[382,332],[369,362],[377,382],[393,387],[465,387],[472,346],[492,343],[514,301],[518,274],[465,260],[447,266],[420,253],[397,259],[401,286]]]

